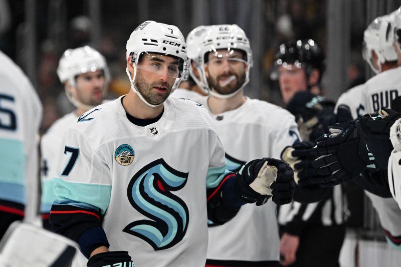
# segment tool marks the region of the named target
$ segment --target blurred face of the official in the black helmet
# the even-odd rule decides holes
[[[294,65],[287,65],[286,68],[279,66],[278,73],[284,103],[288,103],[296,92],[307,90],[306,75],[302,68]]]

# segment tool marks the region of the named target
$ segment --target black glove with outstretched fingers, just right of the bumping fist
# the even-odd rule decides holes
[[[330,135],[317,139],[312,153],[316,160],[305,175],[321,186],[334,186],[355,178],[365,169],[376,169],[373,154],[359,136],[358,122],[337,123],[329,127]]]

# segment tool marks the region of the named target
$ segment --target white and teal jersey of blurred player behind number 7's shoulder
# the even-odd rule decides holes
[[[60,174],[57,173],[57,155],[60,151],[64,151],[62,143],[63,135],[66,130],[77,123],[78,116],[75,111],[64,115],[55,121],[52,127],[42,136],[41,140],[41,181],[42,181],[42,201],[41,213],[49,213],[56,195],[53,191],[53,177]]]

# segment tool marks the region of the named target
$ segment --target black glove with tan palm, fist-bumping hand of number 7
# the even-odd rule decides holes
[[[248,162],[239,171],[236,183],[244,201],[256,202],[258,206],[265,204],[272,195],[276,204],[289,203],[294,194],[294,173],[288,164],[277,159]]]

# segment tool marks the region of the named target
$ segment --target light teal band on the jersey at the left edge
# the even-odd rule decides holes
[[[0,139],[0,182],[25,185],[26,155],[20,140]]]

